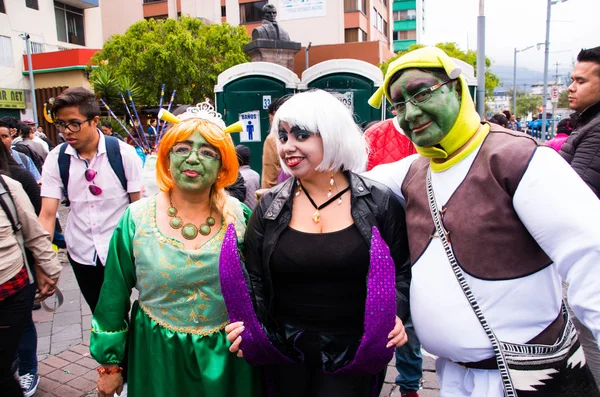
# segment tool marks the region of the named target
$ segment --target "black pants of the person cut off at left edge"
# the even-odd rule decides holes
[[[5,397],[22,397],[21,385],[13,373],[19,340],[31,316],[35,285],[0,301],[0,392]]]

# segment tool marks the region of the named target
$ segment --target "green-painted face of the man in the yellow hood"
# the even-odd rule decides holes
[[[390,86],[392,103],[406,102],[405,110],[396,117],[406,136],[417,146],[438,144],[456,122],[460,98],[455,84],[459,83],[436,87],[444,82],[431,73],[409,69]],[[429,89],[432,87],[433,91]]]

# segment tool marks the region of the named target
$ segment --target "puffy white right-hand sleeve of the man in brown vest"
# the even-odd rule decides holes
[[[600,200],[562,157],[540,147],[513,197],[515,210],[569,285],[569,305],[600,339]]]

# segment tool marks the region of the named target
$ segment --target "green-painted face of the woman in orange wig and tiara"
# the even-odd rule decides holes
[[[208,190],[221,169],[220,154],[199,133],[173,145],[169,153],[171,178],[182,190]]]

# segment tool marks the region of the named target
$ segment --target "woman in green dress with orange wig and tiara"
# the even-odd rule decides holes
[[[249,210],[224,188],[238,161],[221,116],[199,104],[174,119],[156,164],[160,192],[126,210],[110,242],[92,319],[98,395],[253,397],[261,376],[229,354],[218,259],[228,224],[243,242]],[[139,291],[126,322],[132,288]]]

